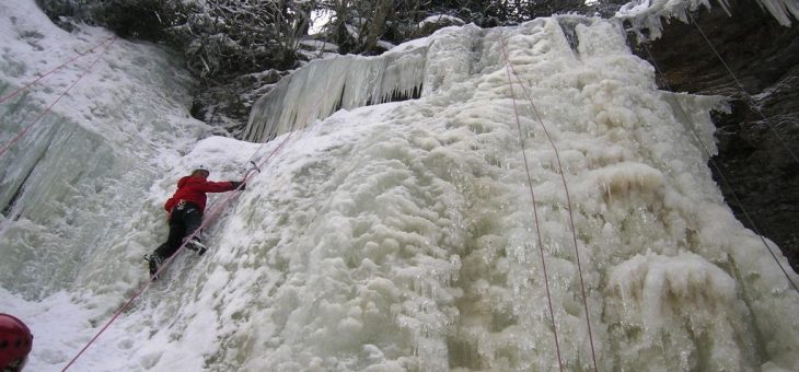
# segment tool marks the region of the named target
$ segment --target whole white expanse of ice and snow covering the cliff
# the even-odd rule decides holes
[[[30,22],[0,19],[0,63],[25,71],[1,69],[3,93],[44,58],[20,30],[44,35],[60,57],[47,66],[107,36],[63,33],[32,0],[0,13]],[[146,284],[141,256],[165,239],[161,206],[180,176],[202,163],[211,179],[241,179],[254,161],[245,191],[210,199],[210,251],[180,254],[72,370],[552,371],[553,330],[565,369],[590,370],[589,318],[603,371],[799,370],[799,294],[723,204],[694,136],[714,151],[723,98],[659,91],[617,22],[568,31],[578,43],[557,18],[449,27],[380,57],[311,62],[254,109],[250,136],[265,143],[207,137],[186,115],[180,61],[117,42],[95,83],[26,137],[43,161],[0,158],[34,174],[0,221],[0,304],[34,332],[28,368],[62,369]],[[502,44],[532,101],[508,84]],[[0,109],[40,109],[79,72]],[[418,100],[364,106],[415,88]],[[16,128],[2,117],[4,141]],[[22,183],[5,179],[3,193]]]

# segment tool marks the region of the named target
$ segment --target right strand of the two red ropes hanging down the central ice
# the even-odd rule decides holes
[[[535,106],[535,103],[533,101],[532,95],[530,94],[530,92],[528,91],[526,86],[524,86],[524,84],[522,83],[521,79],[519,78],[519,73],[517,73],[516,68],[513,67],[513,63],[510,62],[510,58],[508,57],[508,50],[507,50],[507,48],[505,46],[505,39],[502,38],[501,34],[500,34],[500,38],[499,39],[500,39],[500,43],[501,43],[501,46],[502,46],[502,55],[505,56],[505,60],[506,60],[506,69],[509,70],[509,72],[508,72],[508,79],[510,81],[510,79],[511,79],[510,75],[511,75],[511,72],[512,72],[512,75],[516,77],[516,80],[519,83],[519,85],[521,86],[522,91],[524,92],[524,95],[530,101],[530,105],[533,108],[533,113],[537,117],[539,123],[541,123],[541,127],[543,128],[544,133],[546,135],[546,139],[549,141],[549,144],[552,146],[552,149],[555,152],[555,159],[557,160],[558,168],[560,170],[560,172],[559,172],[560,173],[560,179],[561,179],[563,185],[564,185],[564,190],[566,191],[566,202],[567,202],[567,208],[568,208],[568,211],[569,211],[569,225],[571,228],[571,236],[572,236],[572,241],[574,241],[574,245],[575,245],[575,257],[576,257],[576,260],[577,260],[577,269],[578,269],[579,277],[580,277],[580,291],[582,293],[582,305],[583,305],[583,310],[586,311],[586,324],[588,325],[588,339],[589,339],[589,342],[591,345],[591,358],[593,360],[593,369],[594,369],[594,371],[599,371],[599,368],[597,365],[597,352],[595,352],[594,346],[593,346],[593,333],[591,332],[591,318],[590,318],[589,312],[588,312],[588,300],[587,300],[587,295],[586,295],[586,284],[584,284],[583,278],[582,278],[582,264],[580,263],[580,252],[579,252],[578,245],[577,245],[577,231],[575,229],[575,216],[574,216],[574,212],[572,212],[571,196],[569,194],[569,187],[568,187],[568,185],[566,183],[566,172],[564,171],[563,164],[560,162],[560,154],[558,152],[557,146],[555,144],[555,141],[553,141],[552,137],[549,136],[549,131],[546,129],[546,125],[544,124],[544,119],[542,118],[541,114],[539,113],[539,109]],[[510,82],[510,84],[512,86],[512,82]],[[520,138],[521,138],[521,131],[520,131]],[[531,188],[532,188],[532,184],[531,184]]]

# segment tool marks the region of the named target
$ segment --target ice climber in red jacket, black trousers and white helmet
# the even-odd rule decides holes
[[[195,167],[190,175],[177,182],[177,190],[164,204],[170,223],[170,235],[164,244],[161,244],[147,257],[150,264],[150,276],[154,276],[161,267],[161,263],[174,255],[184,240],[200,226],[202,212],[206,209],[206,193],[244,189],[244,183],[239,181],[210,182],[207,179],[209,174],[208,168],[202,165]],[[186,242],[186,247],[196,251],[200,256],[206,253],[206,246],[200,242],[199,232]]]

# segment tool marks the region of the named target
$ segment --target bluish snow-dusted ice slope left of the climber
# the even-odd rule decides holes
[[[113,36],[94,27],[67,33],[28,0],[4,1],[0,14],[0,96]],[[0,103],[5,146],[97,60],[0,155],[0,286],[25,298],[80,288],[99,266],[129,266],[125,248],[141,242],[129,235],[131,218],[158,208],[142,204],[153,177],[204,131],[188,116],[194,81],[178,59],[120,39],[101,57],[103,49]],[[114,260],[94,259],[106,255]]]

